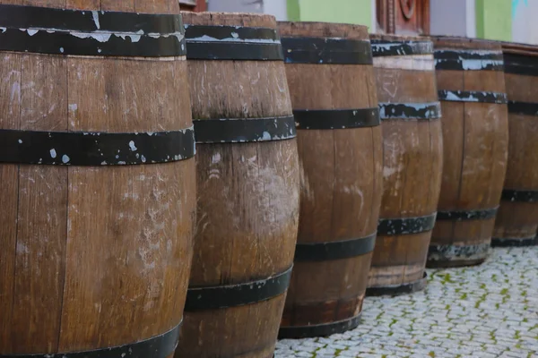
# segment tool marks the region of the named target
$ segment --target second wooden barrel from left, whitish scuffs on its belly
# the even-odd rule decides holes
[[[299,159],[273,16],[184,13],[195,254],[178,357],[273,356],[299,223]]]

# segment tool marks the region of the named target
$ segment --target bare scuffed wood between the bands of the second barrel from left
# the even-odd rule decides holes
[[[191,25],[275,28],[273,16],[183,13]],[[291,115],[279,61],[188,61],[195,119]],[[297,141],[197,146],[197,224],[190,286],[246,284],[291,267],[299,223]],[[186,311],[178,357],[270,358],[285,294]]]

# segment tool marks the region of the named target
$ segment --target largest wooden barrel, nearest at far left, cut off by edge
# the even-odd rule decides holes
[[[178,2],[0,3],[0,356],[170,357],[195,215]]]

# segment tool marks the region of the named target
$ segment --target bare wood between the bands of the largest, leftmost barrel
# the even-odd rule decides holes
[[[13,1],[178,13],[175,1]],[[0,127],[158,132],[192,125],[184,57],[0,54]],[[195,161],[1,165],[0,354],[126,345],[178,325],[195,216]]]

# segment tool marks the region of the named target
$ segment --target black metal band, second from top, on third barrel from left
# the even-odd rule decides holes
[[[379,108],[293,111],[297,129],[346,129],[375,127],[381,124]]]

